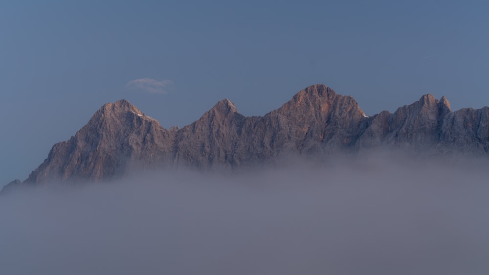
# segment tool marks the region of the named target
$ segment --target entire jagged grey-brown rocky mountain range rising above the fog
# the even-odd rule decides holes
[[[246,117],[228,99],[183,128],[164,129],[127,100],[103,105],[75,136],[14,186],[102,181],[132,171],[236,169],[282,156],[356,154],[377,148],[423,154],[487,155],[489,107],[451,111],[445,97],[423,95],[393,114],[367,117],[351,96],[310,86],[264,116]]]

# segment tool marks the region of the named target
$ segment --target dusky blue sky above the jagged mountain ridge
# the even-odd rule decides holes
[[[367,115],[489,105],[488,1],[0,2],[0,185],[106,102],[168,128],[222,98],[265,115],[322,83]]]

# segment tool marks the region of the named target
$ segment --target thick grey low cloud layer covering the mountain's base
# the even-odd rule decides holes
[[[488,274],[484,169],[309,167],[0,198],[2,274]]]

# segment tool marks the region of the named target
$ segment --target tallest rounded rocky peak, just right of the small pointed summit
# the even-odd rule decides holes
[[[281,154],[324,154],[349,150],[365,114],[351,96],[324,85],[298,92],[264,117],[244,120],[237,155],[241,163]]]

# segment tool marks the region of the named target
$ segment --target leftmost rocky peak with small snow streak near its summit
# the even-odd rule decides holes
[[[126,100],[108,103],[74,137],[55,144],[26,182],[99,181],[169,164],[175,134]]]

